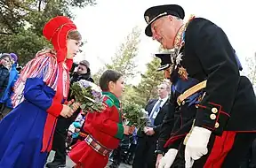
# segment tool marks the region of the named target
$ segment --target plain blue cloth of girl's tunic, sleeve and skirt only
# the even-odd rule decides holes
[[[55,91],[35,78],[27,80],[24,93],[26,100],[0,122],[0,168],[39,168],[46,162],[47,152],[40,151]]]

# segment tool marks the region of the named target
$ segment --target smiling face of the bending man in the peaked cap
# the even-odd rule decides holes
[[[176,31],[174,26],[175,19],[169,15],[160,19],[156,19],[151,24],[152,38],[160,42],[164,49],[170,50],[173,48]]]

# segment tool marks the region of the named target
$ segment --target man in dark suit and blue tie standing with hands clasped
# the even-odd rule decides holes
[[[166,112],[170,111],[168,96],[170,93],[169,83],[163,82],[158,86],[158,99],[148,101],[145,108],[150,118],[150,126],[139,129],[138,144],[132,168],[155,168],[156,164],[156,141]]]

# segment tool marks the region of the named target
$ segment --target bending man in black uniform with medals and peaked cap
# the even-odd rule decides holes
[[[240,76],[236,52],[220,27],[202,18],[184,24],[184,16],[175,4],[144,13],[145,33],[174,50],[170,80],[180,114],[174,127],[180,129],[172,130],[159,166],[241,167],[256,137],[252,83]],[[186,108],[195,103],[195,110]]]

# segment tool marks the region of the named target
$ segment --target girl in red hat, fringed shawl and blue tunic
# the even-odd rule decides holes
[[[73,103],[73,109],[62,103],[68,95],[68,71],[81,35],[67,17],[51,19],[43,34],[54,50],[39,51],[15,83],[15,108],[0,122],[1,168],[43,168],[57,117],[68,118],[78,108],[78,103]]]

